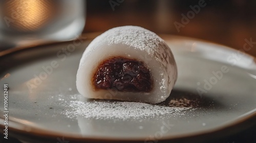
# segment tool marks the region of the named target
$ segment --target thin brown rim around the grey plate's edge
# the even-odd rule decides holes
[[[83,34],[81,37],[87,37],[86,40],[91,40],[91,39],[94,39],[96,36],[98,36],[100,33],[102,33],[102,32],[86,33],[86,34]],[[222,45],[222,44],[219,44],[219,43],[215,43],[215,42],[210,42],[210,41],[206,41],[206,40],[197,39],[197,38],[183,37],[183,36],[177,36],[177,35],[168,35],[168,34],[159,34],[159,36],[160,37],[172,37],[173,39],[199,41],[199,42],[202,42],[202,43],[205,43],[205,44],[214,44],[214,45],[219,46],[219,47],[221,46],[222,48],[227,49],[229,51],[238,52],[238,50],[232,49],[231,47],[228,47],[228,46],[225,46],[225,45]],[[165,38],[163,38],[163,39],[165,39]],[[17,47],[15,49],[9,49],[9,50],[0,52],[0,58],[4,58],[5,56],[16,54],[16,53],[19,53],[19,52],[24,52],[26,50],[31,50],[31,49],[34,50],[34,49],[36,49],[38,47],[41,47],[41,46],[59,45],[59,44],[64,44],[64,43],[70,43],[70,42],[73,42],[73,41],[75,41],[75,40],[62,41],[62,42],[51,42],[51,43],[44,43],[44,44],[39,43],[39,44],[33,44],[31,46],[20,46],[20,47]],[[255,60],[255,57],[253,57],[252,55],[249,55],[249,54],[245,53],[245,56],[251,57]],[[227,125],[223,125],[223,126],[213,128],[213,129],[207,129],[206,131],[186,133],[186,134],[183,134],[183,135],[165,136],[165,137],[162,137],[159,140],[185,139],[185,138],[200,137],[202,135],[211,136],[212,134],[215,134],[215,133],[224,136],[224,134],[221,134],[221,132],[225,132],[225,130],[229,130],[229,132],[228,132],[229,134],[231,134],[232,132],[236,132],[236,131],[238,131],[236,126],[247,125],[247,124],[244,124],[244,123],[246,123],[246,121],[249,121],[251,118],[256,118],[256,108],[249,111],[249,112],[246,112],[245,114],[243,114],[241,116],[239,116],[239,118],[237,118],[235,120],[232,120]],[[5,125],[3,124],[4,123],[4,118],[2,116],[0,117],[0,122],[1,122],[1,124],[0,124],[1,131],[0,132],[3,132],[2,129],[5,128]],[[20,129],[18,129],[17,127],[15,128],[15,127],[8,126],[9,132],[11,134],[20,134],[20,135],[34,136],[34,137],[36,137],[36,136],[37,137],[51,137],[51,138],[54,137],[55,139],[56,139],[56,136],[58,136],[58,137],[65,137],[66,139],[68,138],[70,140],[79,139],[79,140],[83,140],[83,141],[145,141],[144,137],[136,137],[136,138],[133,138],[133,139],[121,139],[121,137],[120,138],[116,138],[116,137],[115,138],[114,137],[99,138],[97,136],[95,136],[95,137],[85,137],[85,136],[82,136],[82,135],[72,135],[70,133],[60,133],[60,132],[56,132],[56,131],[50,131],[50,130],[46,130],[46,129],[40,129],[40,128],[28,126],[26,124],[22,124],[22,123],[13,121],[12,117],[9,117],[8,122],[13,124],[14,126],[20,126],[20,127],[18,127]],[[256,125],[256,123],[254,123],[254,124]],[[250,127],[250,126],[248,126],[248,127]],[[27,130],[26,130],[26,128],[27,128]],[[243,129],[243,130],[245,130],[245,129]],[[227,134],[227,132],[225,132],[225,135],[226,134]]]

